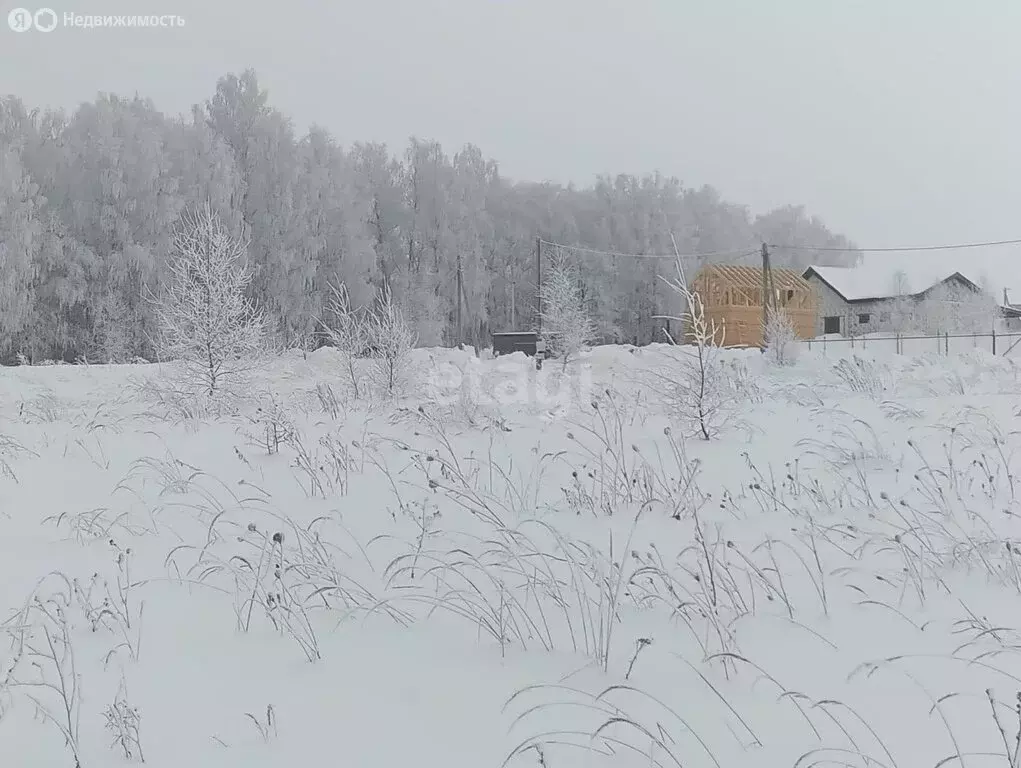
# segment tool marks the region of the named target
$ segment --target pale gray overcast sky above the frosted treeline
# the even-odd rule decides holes
[[[866,246],[1021,233],[1021,0],[49,2],[187,23],[0,29],[0,93],[34,105],[184,111],[253,66],[345,144],[474,142],[532,180],[659,170]]]

